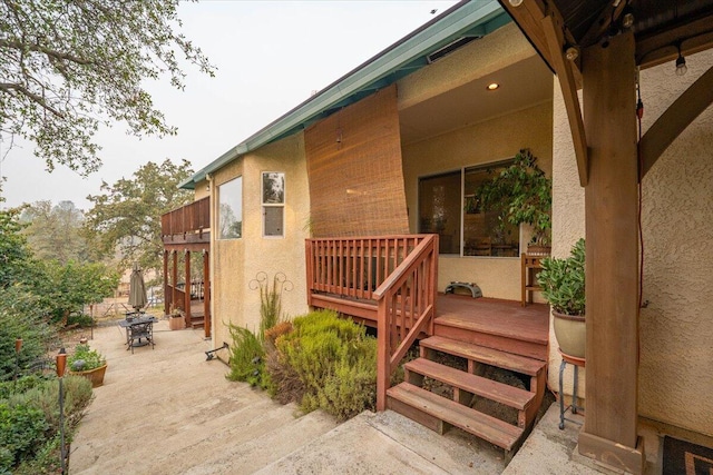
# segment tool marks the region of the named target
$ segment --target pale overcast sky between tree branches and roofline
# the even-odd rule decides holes
[[[101,169],[88,178],[58,166],[46,171],[32,145],[0,164],[4,204],[74,201],[87,209],[102,180],[130,177],[143,164],[185,158],[198,170],[312,91],[320,90],[398,41],[456,1],[229,1],[182,3],[183,31],[217,67],[215,78],[186,68],[186,89],[148,85],[155,105],[178,135],[141,140],[121,123],[101,130]],[[4,154],[7,142],[0,144]]]

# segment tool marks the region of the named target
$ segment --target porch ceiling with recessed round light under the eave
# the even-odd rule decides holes
[[[527,87],[524,87],[524,81]],[[500,85],[495,91],[486,89]],[[401,140],[411,144],[551,100],[553,73],[537,56],[399,111]]]

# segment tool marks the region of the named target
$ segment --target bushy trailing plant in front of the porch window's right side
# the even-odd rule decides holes
[[[553,181],[537,166],[537,157],[529,149],[521,149],[512,165],[480,184],[475,196],[482,210],[499,214],[502,226],[533,226],[528,254],[549,254]]]

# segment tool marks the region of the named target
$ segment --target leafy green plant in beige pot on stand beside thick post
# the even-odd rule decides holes
[[[559,350],[576,358],[585,357],[585,243],[579,239],[569,257],[547,257],[537,281],[553,307],[555,336]]]

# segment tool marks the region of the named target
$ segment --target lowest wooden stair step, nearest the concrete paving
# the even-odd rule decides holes
[[[506,451],[511,451],[524,433],[519,427],[409,383],[391,387],[387,394],[390,409],[434,431],[438,431],[436,423],[443,422]]]

